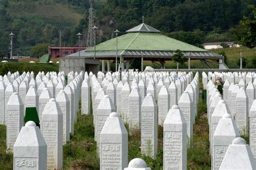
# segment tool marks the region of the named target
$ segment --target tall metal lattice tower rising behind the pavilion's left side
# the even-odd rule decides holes
[[[92,32],[92,27],[94,26],[94,16],[93,16],[93,8],[92,8],[92,3],[89,9],[89,24],[88,24],[88,33],[87,33],[87,42],[86,42],[86,46],[87,47],[92,47],[94,46],[94,34]]]

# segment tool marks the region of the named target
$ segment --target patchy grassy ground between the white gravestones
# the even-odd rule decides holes
[[[206,104],[201,100],[198,103],[198,115],[194,124],[193,143],[187,148],[188,169],[211,169],[209,154],[208,124]],[[129,131],[129,129],[128,129]],[[12,168],[12,155],[6,154],[6,128],[0,125],[0,169]],[[140,131],[129,132],[129,161],[133,158],[142,158],[153,169],[163,169],[163,127],[158,126],[158,153],[157,159],[140,154]],[[94,141],[93,116],[81,115],[78,112],[75,133],[70,141],[63,146],[64,169],[99,169],[99,159],[96,154]]]

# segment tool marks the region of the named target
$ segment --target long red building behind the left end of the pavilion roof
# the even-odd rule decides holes
[[[86,49],[87,47],[80,47],[80,51]],[[79,51],[79,47],[59,47],[58,46],[49,46],[48,54],[51,54],[52,58],[64,58],[66,55],[70,55]]]

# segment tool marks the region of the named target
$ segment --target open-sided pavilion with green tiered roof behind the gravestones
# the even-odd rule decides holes
[[[100,59],[105,70],[105,61],[107,60],[107,70],[110,70],[110,60],[120,62],[119,68],[122,67],[126,60],[126,69],[129,68],[129,61],[134,59],[143,61],[160,62],[161,68],[165,68],[165,61],[171,60],[177,49],[188,58],[188,68],[190,60],[212,60],[219,62],[219,68],[223,65],[223,56],[212,53],[206,49],[199,48],[185,42],[164,36],[160,31],[142,23],[126,31],[126,34],[102,42],[95,47],[80,51],[80,57],[88,59]],[[95,50],[96,49],[96,50]],[[79,52],[69,55],[68,57],[78,57]]]

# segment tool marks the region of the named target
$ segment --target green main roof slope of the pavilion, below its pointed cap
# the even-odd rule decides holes
[[[176,51],[207,52],[207,50],[185,42],[164,36],[159,33],[131,32],[118,37],[118,51]],[[94,51],[94,48],[85,52]],[[96,46],[96,51],[116,51],[116,38]]]

